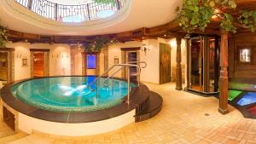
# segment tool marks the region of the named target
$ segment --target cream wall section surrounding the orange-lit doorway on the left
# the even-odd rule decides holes
[[[15,80],[31,77],[30,49],[50,49],[49,75],[70,75],[70,49],[67,44],[45,43],[7,43],[7,48],[15,48]],[[22,66],[22,59],[27,59],[27,66]]]

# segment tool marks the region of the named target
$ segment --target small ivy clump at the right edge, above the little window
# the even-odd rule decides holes
[[[255,32],[256,25],[256,11],[243,10],[241,15],[238,17],[238,21],[242,26],[248,27],[252,32]]]

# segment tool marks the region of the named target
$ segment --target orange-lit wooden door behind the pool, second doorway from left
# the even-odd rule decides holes
[[[34,53],[34,77],[44,77],[44,53]]]

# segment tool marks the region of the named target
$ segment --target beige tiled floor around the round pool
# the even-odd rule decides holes
[[[175,90],[174,84],[148,87],[163,96],[162,111],[145,122],[130,124],[108,134],[76,138],[29,135],[11,144],[256,144],[256,120],[243,118],[230,107],[218,113],[218,99]],[[1,140],[1,139],[0,139]]]

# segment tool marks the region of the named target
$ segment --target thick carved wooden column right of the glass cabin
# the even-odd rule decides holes
[[[229,109],[228,109],[228,94],[229,94],[228,52],[229,52],[228,32],[221,30],[218,112],[222,114],[226,114],[229,112]]]

